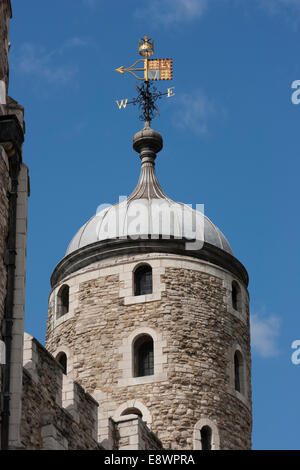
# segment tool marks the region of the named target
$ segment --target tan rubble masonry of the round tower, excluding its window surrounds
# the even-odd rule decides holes
[[[70,276],[66,282],[73,286],[74,310],[53,328],[54,311],[50,308],[47,348],[53,353],[68,348],[74,378],[89,393],[101,397],[104,422],[122,404],[138,400],[149,410],[151,430],[165,449],[192,449],[194,428],[204,418],[216,424],[221,449],[249,449],[248,306],[244,320],[233,315],[228,303],[231,293],[221,270],[214,268],[216,274],[212,275],[203,262],[197,269],[167,267],[168,260],[164,265],[161,299],[129,305],[120,297],[123,286],[118,274],[97,277],[99,271],[95,271],[96,278],[78,284],[76,275]],[[119,269],[122,271],[122,266]],[[89,275],[93,277],[84,276]],[[231,279],[230,273],[226,276]],[[143,328],[162,335],[167,357],[165,379],[162,375],[157,382],[120,385],[124,340]],[[230,372],[236,344],[245,360],[244,399],[235,393]]]

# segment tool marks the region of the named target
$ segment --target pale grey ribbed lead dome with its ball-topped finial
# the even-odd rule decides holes
[[[162,136],[148,123],[133,137],[140,154],[141,174],[128,199],[97,212],[76,233],[66,256],[101,240],[137,238],[184,238],[209,243],[229,254],[231,247],[223,233],[201,211],[172,201],[162,190],[155,173],[156,153]]]

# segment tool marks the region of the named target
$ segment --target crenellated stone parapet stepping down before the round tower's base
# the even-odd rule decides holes
[[[35,338],[24,334],[21,443],[26,449],[103,449],[97,443],[98,402],[63,373]],[[108,418],[108,447],[161,450],[140,416]]]

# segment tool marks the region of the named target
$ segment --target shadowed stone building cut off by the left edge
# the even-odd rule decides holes
[[[0,1],[0,448],[19,448],[28,168],[24,108],[8,96],[10,0]]]

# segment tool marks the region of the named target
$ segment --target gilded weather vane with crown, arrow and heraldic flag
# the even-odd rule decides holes
[[[137,98],[128,101],[128,98],[116,100],[119,109],[125,109],[128,104],[138,105],[142,113],[139,116],[141,120],[151,122],[155,114],[159,114],[159,110],[155,102],[162,96],[167,95],[168,98],[175,95],[175,87],[167,89],[166,93],[161,93],[153,86],[153,81],[157,80],[172,80],[172,59],[149,59],[154,52],[154,41],[148,39],[148,36],[139,40],[139,54],[144,59],[137,60],[133,65],[125,68],[123,65],[116,72],[124,74],[125,72],[131,73],[135,78],[143,83],[139,86],[136,85],[138,91]],[[142,62],[143,67],[135,68],[135,66]],[[142,64],[141,64],[142,65]],[[143,72],[143,76],[138,76],[135,72]]]

